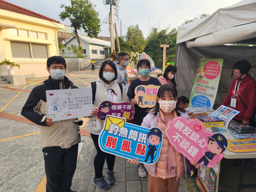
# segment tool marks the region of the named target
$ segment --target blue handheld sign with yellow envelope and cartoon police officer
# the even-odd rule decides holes
[[[98,144],[104,152],[153,164],[159,158],[162,131],[157,127],[145,128],[125,122],[125,118],[106,115]]]

